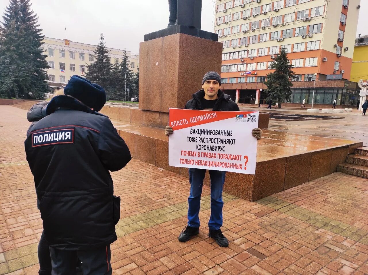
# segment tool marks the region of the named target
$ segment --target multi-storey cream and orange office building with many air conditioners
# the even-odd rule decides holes
[[[344,81],[350,79],[359,9],[360,0],[217,0],[223,90],[238,103],[263,103],[263,81],[284,48],[295,67],[291,103],[311,103],[316,73],[315,104],[356,104],[358,88]]]

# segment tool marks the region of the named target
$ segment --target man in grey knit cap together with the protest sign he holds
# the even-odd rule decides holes
[[[182,138],[185,140],[186,144],[196,146],[195,149],[186,151],[180,150],[175,144],[170,146],[171,144],[169,143],[169,164],[172,166],[190,167],[189,182],[191,188],[188,198],[188,225],[185,226],[178,239],[180,242],[186,242],[190,240],[192,236],[199,233],[200,223],[198,215],[202,186],[206,169],[208,169],[211,187],[211,216],[208,222],[208,236],[215,239],[219,246],[227,247],[229,242],[220,229],[222,226],[222,189],[225,182],[225,173],[226,171],[241,171],[242,173],[246,171],[247,167],[245,167],[245,165],[248,162],[248,156],[242,156],[237,153],[234,154],[234,149],[236,150],[235,146],[238,144],[234,136],[239,136],[238,133],[241,133],[241,131],[244,132],[244,129],[246,129],[244,125],[248,125],[249,127],[249,125],[258,123],[258,112],[245,112],[247,113],[246,115],[240,114],[240,112],[234,113],[234,111],[239,111],[239,107],[230,99],[228,94],[224,94],[222,90],[220,90],[221,77],[217,72],[208,72],[205,74],[202,81],[202,88],[202,90],[193,94],[193,98],[185,105],[185,109],[188,109],[188,111],[170,109],[169,116],[171,117],[169,120],[171,121],[171,127],[166,126],[165,131],[165,135],[169,136],[173,133],[174,127],[175,130],[178,130],[178,135],[175,137],[176,139],[180,140]],[[206,110],[206,112],[201,111],[201,115],[193,116],[193,111],[189,110]],[[219,113],[213,111],[231,112]],[[179,112],[181,112],[181,117],[176,115]],[[185,117],[186,114],[183,114],[183,112],[187,113],[187,117]],[[178,119],[173,121],[172,118],[175,119],[176,117],[178,117]],[[227,127],[230,127],[229,129],[212,129],[213,126],[211,128],[211,122],[213,124],[220,120],[224,121],[225,119],[230,119],[230,121],[234,120],[240,123],[246,122],[246,119],[248,119],[248,122],[251,120],[254,123],[243,125],[228,124]],[[201,125],[201,129],[193,127],[199,125]],[[237,132],[237,130],[239,130],[239,132]],[[252,135],[259,140],[261,139],[262,130],[255,128],[252,130]],[[256,142],[254,144],[256,146]],[[178,162],[179,160],[180,162]],[[253,166],[254,167],[250,167],[251,170],[255,170],[255,157]],[[193,167],[203,167],[205,169]],[[248,169],[248,171],[249,170],[250,169]]]

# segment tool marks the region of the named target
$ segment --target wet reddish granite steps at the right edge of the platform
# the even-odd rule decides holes
[[[346,163],[337,166],[338,172],[368,179],[368,147],[358,147],[355,154],[346,157]]]

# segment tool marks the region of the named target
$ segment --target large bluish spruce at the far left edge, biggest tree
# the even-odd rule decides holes
[[[29,0],[11,0],[0,28],[0,96],[43,99],[50,91],[42,29]]]

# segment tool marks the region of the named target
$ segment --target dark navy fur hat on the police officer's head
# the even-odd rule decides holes
[[[101,86],[79,75],[73,75],[64,88],[64,94],[78,99],[98,112],[106,103],[106,92]]]

